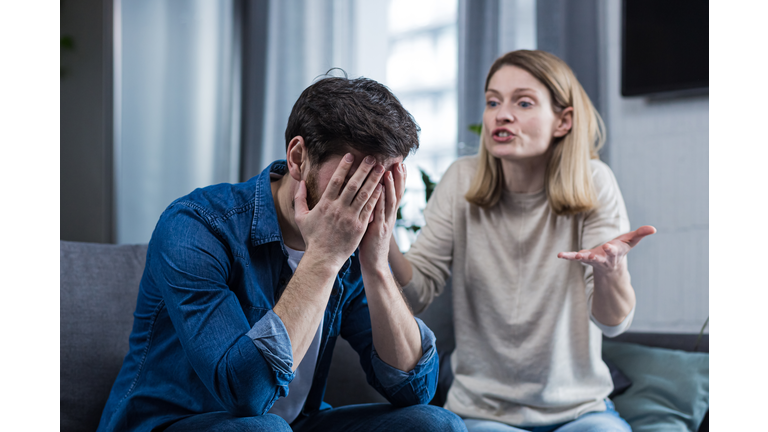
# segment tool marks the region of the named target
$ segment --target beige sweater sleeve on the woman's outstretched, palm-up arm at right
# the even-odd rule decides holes
[[[591,165],[592,180],[597,192],[598,205],[595,209],[587,212],[584,218],[581,249],[595,248],[630,230],[627,207],[624,204],[624,198],[621,195],[616,177],[608,165],[603,162],[593,160]],[[584,280],[586,282],[587,305],[589,306],[589,315],[592,317],[592,296],[595,289],[594,272],[592,266],[585,265],[585,267]],[[630,315],[634,315],[634,308],[633,313]],[[597,324],[594,318],[592,318],[592,321]],[[618,326],[608,328],[608,326],[598,325],[598,327],[607,336],[613,337],[623,333],[631,322],[632,318],[628,316]]]

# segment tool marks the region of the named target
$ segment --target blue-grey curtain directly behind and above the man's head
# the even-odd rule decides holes
[[[372,22],[370,17],[386,13],[386,4],[369,0],[246,4],[241,180],[285,158],[284,133],[291,108],[317,77],[342,68],[351,78],[383,78],[366,73],[364,65],[370,64],[377,48],[368,43],[366,34],[386,31],[386,20]]]

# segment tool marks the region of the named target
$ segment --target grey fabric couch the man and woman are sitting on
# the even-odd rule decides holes
[[[61,242],[62,432],[94,431],[98,426],[112,382],[128,351],[146,250],[146,245]],[[447,290],[420,315],[435,332],[441,352],[450,352],[454,346],[450,287]],[[692,350],[695,339],[696,335],[638,333],[618,338],[685,350]],[[699,350],[708,352],[708,337]],[[444,372],[441,370],[441,377]],[[439,404],[446,390],[438,389],[434,403]],[[343,339],[336,344],[325,401],[333,406],[385,402],[366,383],[357,354]]]

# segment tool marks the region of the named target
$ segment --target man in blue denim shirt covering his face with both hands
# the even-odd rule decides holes
[[[387,263],[418,130],[381,84],[325,78],[293,107],[285,161],[173,202],[99,431],[464,430],[426,405],[435,337]],[[322,401],[338,336],[390,404]]]

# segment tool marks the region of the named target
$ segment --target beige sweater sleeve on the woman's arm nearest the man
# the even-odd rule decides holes
[[[429,306],[451,276],[454,244],[454,201],[459,168],[454,162],[443,175],[424,209],[425,224],[405,257],[413,277],[403,287],[414,314]]]

